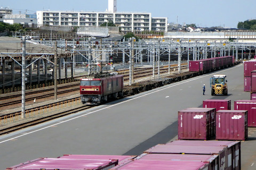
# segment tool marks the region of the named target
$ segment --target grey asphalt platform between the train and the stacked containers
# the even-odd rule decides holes
[[[228,96],[211,96],[210,77],[226,74]],[[206,92],[203,96],[202,86]],[[140,155],[177,139],[178,111],[202,107],[204,99],[250,99],[243,91],[243,65],[169,84],[72,116],[0,137],[0,169],[63,154]],[[242,142],[242,169],[256,169],[256,132]]]

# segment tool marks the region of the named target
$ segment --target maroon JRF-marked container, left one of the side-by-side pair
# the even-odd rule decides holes
[[[185,109],[178,112],[178,139],[207,140],[212,137],[211,111]]]

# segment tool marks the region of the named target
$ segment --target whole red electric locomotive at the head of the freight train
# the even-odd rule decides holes
[[[122,97],[123,88],[123,75],[83,78],[80,79],[81,101],[83,104],[97,105],[110,99]]]

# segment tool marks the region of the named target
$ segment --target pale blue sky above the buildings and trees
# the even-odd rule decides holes
[[[256,0],[117,0],[118,12],[149,12],[153,17],[167,17],[168,22],[194,23],[197,27],[237,28],[238,22],[256,19]],[[43,10],[103,12],[108,0],[0,0],[0,7],[13,13]]]

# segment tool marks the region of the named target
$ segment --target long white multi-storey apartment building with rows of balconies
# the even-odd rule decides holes
[[[112,9],[115,11],[115,7]],[[37,11],[39,25],[100,26],[113,21],[121,31],[166,31],[167,18],[152,18],[144,12]]]

